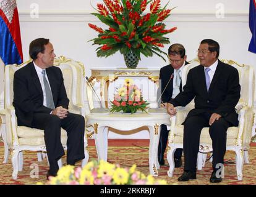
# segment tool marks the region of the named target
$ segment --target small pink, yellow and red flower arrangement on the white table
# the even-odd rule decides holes
[[[134,80],[125,79],[124,86],[117,89],[114,100],[111,102],[111,112],[124,111],[124,113],[136,113],[142,110],[147,113],[145,108],[149,103],[143,100],[141,90],[134,84]]]

